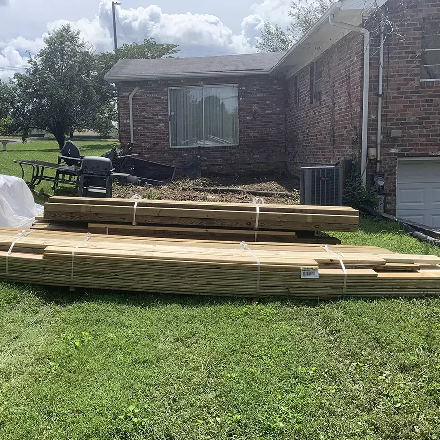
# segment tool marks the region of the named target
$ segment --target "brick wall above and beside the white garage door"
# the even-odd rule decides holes
[[[396,167],[398,157],[440,155],[440,82],[420,82],[423,23],[440,19],[440,3],[410,1],[402,8],[399,1],[387,2],[392,22],[400,23],[399,37],[393,35],[384,45],[382,164],[385,173],[385,208],[396,211]],[[377,38],[372,42],[369,112],[369,146],[376,146]],[[391,130],[402,131],[401,138],[391,138]],[[369,163],[369,178],[375,172],[375,160]]]

